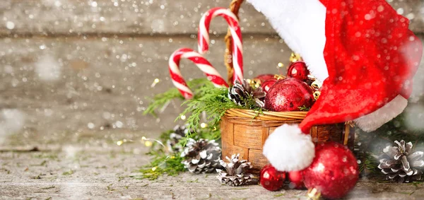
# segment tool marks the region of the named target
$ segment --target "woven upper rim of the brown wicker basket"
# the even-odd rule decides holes
[[[245,109],[229,109],[225,112],[224,117],[240,117],[248,119],[260,119],[264,121],[289,121],[293,119],[305,119],[307,111],[291,111],[291,112],[273,112],[264,111],[259,114],[258,111]]]

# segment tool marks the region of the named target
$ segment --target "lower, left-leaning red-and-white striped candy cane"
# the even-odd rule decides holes
[[[193,49],[182,48],[177,49],[174,53],[172,53],[169,61],[169,69],[170,75],[172,78],[172,83],[175,87],[178,88],[179,92],[184,96],[185,99],[193,98],[193,92],[187,86],[186,81],[181,76],[181,71],[179,71],[179,60],[185,58],[189,59],[199,67],[201,71],[203,71],[208,77],[208,80],[213,83],[216,87],[227,87],[228,84],[225,82],[224,78],[220,76],[218,71],[206,60],[201,54],[195,52]]]

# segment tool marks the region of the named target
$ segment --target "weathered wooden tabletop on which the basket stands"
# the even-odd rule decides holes
[[[129,131],[85,134],[17,134],[0,145],[0,199],[302,199],[307,190],[269,192],[260,185],[230,187],[216,175],[163,176],[140,180],[149,163],[140,143],[117,146],[116,139],[139,139]],[[46,143],[46,139],[54,140]],[[116,141],[115,141],[116,142]],[[18,144],[16,144],[18,143]],[[39,151],[28,151],[34,146]],[[27,150],[27,151],[25,151]],[[260,152],[258,152],[260,153]],[[69,173],[66,173],[69,172]],[[422,183],[360,179],[345,199],[423,199]],[[304,198],[306,199],[306,197]]]

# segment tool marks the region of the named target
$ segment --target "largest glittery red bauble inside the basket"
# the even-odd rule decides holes
[[[311,107],[314,102],[312,89],[296,78],[285,78],[273,84],[265,96],[265,109],[283,112],[298,111],[299,107]]]

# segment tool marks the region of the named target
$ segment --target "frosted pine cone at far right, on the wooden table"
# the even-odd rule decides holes
[[[421,180],[424,167],[423,151],[411,152],[412,143],[401,140],[394,141],[397,146],[387,146],[384,148],[382,159],[379,160],[379,169],[386,176],[386,180],[397,182],[410,182]]]

